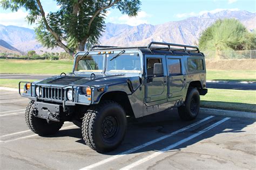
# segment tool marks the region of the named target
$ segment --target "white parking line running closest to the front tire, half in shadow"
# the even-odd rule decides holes
[[[185,131],[185,130],[187,130],[187,129],[190,129],[190,128],[192,128],[193,126],[196,126],[196,125],[198,125],[198,124],[200,124],[200,123],[203,123],[203,122],[205,122],[205,121],[207,121],[208,119],[211,119],[211,118],[213,118],[213,117],[214,117],[214,116],[206,117],[206,118],[202,119],[201,121],[198,121],[198,122],[196,122],[196,123],[193,123],[193,124],[191,124],[191,125],[186,126],[185,128],[182,128],[182,129],[180,129],[180,130],[174,131],[174,132],[172,132],[172,133],[170,133],[170,134],[166,134],[165,136],[162,136],[162,137],[160,137],[160,138],[157,138],[157,139],[148,141],[147,143],[144,143],[144,144],[142,144],[142,145],[133,147],[133,148],[131,148],[130,150],[124,151],[124,152],[122,152],[122,153],[119,153],[119,154],[114,155],[114,156],[112,156],[112,157],[110,157],[110,158],[104,159],[104,160],[102,160],[102,161],[99,161],[99,162],[97,162],[97,163],[95,163],[95,164],[86,166],[86,167],[81,168],[81,169],[91,169],[91,168],[95,168],[95,167],[97,167],[97,166],[103,165],[103,164],[105,164],[106,162],[109,162],[109,161],[112,161],[112,160],[114,160],[114,159],[123,157],[123,156],[126,155],[126,154],[129,154],[129,153],[131,153],[131,152],[137,151],[137,150],[139,150],[139,149],[141,149],[141,148],[143,148],[143,147],[152,145],[152,144],[154,144],[154,143],[157,143],[157,142],[160,141],[160,140],[169,138],[169,137],[171,137],[171,136],[173,136],[173,135],[175,135],[175,134],[178,134],[178,133],[183,132],[183,131]]]

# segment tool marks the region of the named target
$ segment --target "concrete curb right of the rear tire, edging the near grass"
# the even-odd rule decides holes
[[[199,113],[200,114],[210,114],[210,115],[221,115],[221,116],[232,116],[232,117],[242,117],[242,118],[256,119],[256,113],[245,112],[245,111],[200,108]]]

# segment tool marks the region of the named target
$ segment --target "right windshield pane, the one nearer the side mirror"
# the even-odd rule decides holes
[[[116,54],[107,54],[106,72],[134,72],[140,73],[140,56],[138,53],[120,54],[111,60]],[[111,60],[111,61],[110,61]]]

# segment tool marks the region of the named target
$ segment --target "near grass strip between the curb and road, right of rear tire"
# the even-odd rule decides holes
[[[208,89],[201,97],[201,107],[256,112],[255,90]]]

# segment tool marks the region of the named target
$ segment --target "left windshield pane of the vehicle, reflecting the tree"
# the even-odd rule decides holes
[[[77,72],[103,72],[104,55],[78,56]]]

